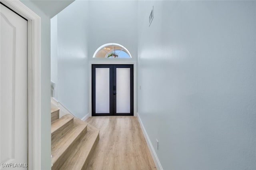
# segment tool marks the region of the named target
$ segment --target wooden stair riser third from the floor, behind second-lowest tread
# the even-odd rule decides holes
[[[61,128],[56,130],[55,132],[52,132],[52,145],[54,142],[56,142],[59,138],[64,136],[72,127],[74,124],[74,119],[71,119],[68,121],[65,125],[63,125]]]

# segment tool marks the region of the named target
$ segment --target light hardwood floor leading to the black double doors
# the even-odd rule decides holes
[[[100,130],[100,140],[88,170],[156,170],[137,117],[90,117]]]

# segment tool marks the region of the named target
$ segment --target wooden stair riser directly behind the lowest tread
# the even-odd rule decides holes
[[[60,170],[61,166],[70,156],[70,153],[76,148],[76,146],[82,140],[86,132],[87,132],[87,127],[85,127],[84,130],[82,130],[82,132],[74,139],[72,144],[70,144],[70,146],[68,146],[65,152],[63,152],[63,154],[56,160],[56,162],[52,166],[52,170]]]

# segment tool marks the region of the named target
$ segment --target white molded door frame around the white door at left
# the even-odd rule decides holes
[[[28,169],[41,169],[41,18],[19,0],[0,0],[28,20]],[[22,162],[19,162],[22,163]]]

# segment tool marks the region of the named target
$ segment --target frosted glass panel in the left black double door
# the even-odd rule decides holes
[[[109,68],[96,68],[96,113],[109,113]]]

